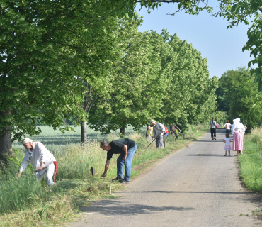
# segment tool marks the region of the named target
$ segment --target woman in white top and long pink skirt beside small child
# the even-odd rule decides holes
[[[232,133],[233,133],[233,148],[232,150],[237,151],[237,155],[240,155],[243,153],[243,150],[245,150],[245,140],[244,140],[244,133],[246,131],[246,126],[244,126],[240,122],[240,118],[236,118],[233,120],[232,125]]]

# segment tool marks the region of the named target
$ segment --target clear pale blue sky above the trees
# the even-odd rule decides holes
[[[213,4],[216,6],[215,2]],[[144,16],[144,23],[139,27],[139,31],[153,30],[161,33],[162,29],[167,29],[170,35],[177,33],[178,38],[192,43],[202,57],[207,58],[210,77],[221,77],[227,70],[247,67],[252,57],[249,52],[242,52],[242,48],[247,41],[246,32],[249,26],[240,24],[233,29],[227,29],[227,20],[204,11],[198,16],[191,16],[183,11],[175,16],[166,15],[174,13],[176,9],[177,4],[163,4],[148,14],[145,8],[139,11],[137,7],[139,15]]]

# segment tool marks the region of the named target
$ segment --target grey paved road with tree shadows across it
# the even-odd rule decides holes
[[[241,185],[237,157],[224,157],[224,133],[169,155],[116,193],[119,199],[95,202],[67,226],[262,226],[250,216],[261,204]]]

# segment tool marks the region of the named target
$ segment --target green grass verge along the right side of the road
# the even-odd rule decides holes
[[[240,177],[248,189],[262,192],[262,128],[245,135],[245,150],[239,155]]]

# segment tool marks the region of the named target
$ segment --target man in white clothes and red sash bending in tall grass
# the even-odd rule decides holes
[[[48,186],[52,186],[54,181],[52,179],[54,172],[56,177],[57,162],[54,155],[50,153],[45,146],[40,142],[33,142],[30,138],[24,138],[22,140],[25,150],[25,157],[19,169],[18,176],[20,177],[22,172],[25,171],[29,163],[31,163],[38,174],[35,176],[41,180],[44,177]]]

